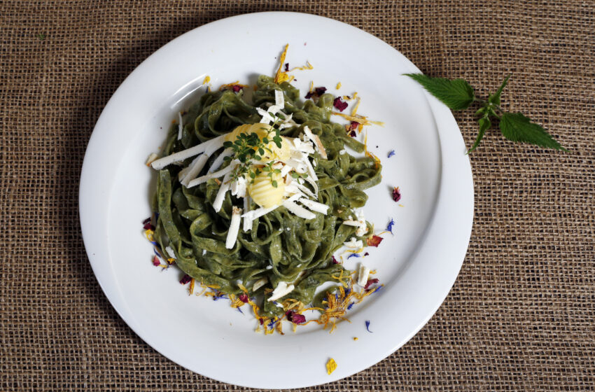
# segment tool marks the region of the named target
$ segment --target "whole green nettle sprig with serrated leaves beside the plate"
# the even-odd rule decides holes
[[[568,151],[560,146],[541,125],[533,123],[531,118],[524,116],[522,113],[504,111],[500,107],[500,95],[504,87],[506,87],[510,75],[504,79],[495,93],[489,94],[487,99],[475,97],[473,87],[463,79],[430,78],[422,73],[405,73],[405,75],[416,80],[430,94],[440,99],[452,110],[465,110],[474,102],[479,103],[480,107],[475,112],[478,117],[479,132],[475,143],[467,153],[474,151],[479,146],[479,142],[482,141],[486,131],[492,127],[494,120],[499,123],[500,132],[508,140]]]

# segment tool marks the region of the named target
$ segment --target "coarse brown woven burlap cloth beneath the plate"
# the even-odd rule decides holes
[[[594,3],[526,0],[0,1],[0,390],[244,389],[160,356],[112,309],[81,239],[78,181],[94,123],[138,64],[262,10],[348,22],[479,94],[512,73],[505,109],[571,151],[489,133],[470,157],[468,254],[440,310],[386,360],[306,390],[594,391]],[[472,144],[472,113],[455,116]]]

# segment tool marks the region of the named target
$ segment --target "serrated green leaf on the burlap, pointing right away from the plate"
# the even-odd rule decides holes
[[[500,118],[500,131],[508,140],[568,151],[560,146],[541,125],[531,123],[531,118],[522,113],[503,113]]]

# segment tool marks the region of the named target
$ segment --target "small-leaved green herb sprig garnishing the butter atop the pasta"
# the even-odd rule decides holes
[[[223,158],[225,161],[238,160],[239,165],[234,169],[231,181],[243,177],[245,174],[251,178],[251,183],[258,174],[261,173],[258,167],[252,165],[253,160],[260,161],[268,151],[272,153],[271,149],[268,148],[269,143],[272,141],[278,148],[281,148],[281,134],[278,128],[276,128],[277,121],[275,120],[272,127],[262,127],[263,130],[267,131],[265,137],[260,137],[258,134],[251,133],[245,134],[240,133],[237,135],[235,141],[223,142],[223,147],[231,148],[234,153],[232,156]],[[271,163],[271,162],[269,162]],[[264,165],[264,164],[263,164]],[[265,165],[267,167],[268,164]],[[262,168],[262,170],[265,169]],[[272,177],[272,172],[269,173],[269,177]],[[276,181],[272,181],[273,186],[276,188]]]

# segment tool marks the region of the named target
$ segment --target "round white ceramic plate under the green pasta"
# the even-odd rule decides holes
[[[395,235],[368,249],[365,264],[384,289],[353,307],[332,334],[318,325],[285,336],[253,332],[255,320],[226,301],[188,296],[173,268],[153,267],[141,222],[151,214],[158,151],[176,113],[211,84],[253,84],[272,75],[283,45],[307,91],[310,80],[335,94],[357,91],[358,113],[381,120],[368,146],[381,158],[382,183],[368,190],[368,221],[395,219]],[[130,328],[183,367],[255,388],[323,384],[364,370],[405,344],[454,283],[472,225],[473,186],[465,145],[450,111],[406,76],[419,72],[400,52],[360,29],[300,13],[254,13],[209,23],[174,39],[122,83],[97,121],[80,178],[80,223],[97,281]],[[342,82],[339,91],[337,82]],[[339,120],[337,118],[337,120]],[[395,150],[388,159],[387,154]],[[399,186],[402,200],[390,190]],[[400,207],[402,204],[403,207]],[[346,267],[355,268],[351,258]],[[365,321],[370,321],[370,330]],[[357,341],[353,337],[358,337]],[[328,375],[325,363],[335,358]]]

